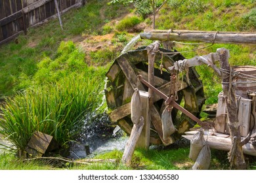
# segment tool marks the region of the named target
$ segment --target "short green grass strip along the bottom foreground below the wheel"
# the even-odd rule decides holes
[[[116,163],[91,163],[81,165],[70,163],[51,163],[51,161],[22,161],[14,154],[0,154],[0,170],[20,169],[69,169],[69,170],[188,170],[194,162],[188,158],[189,148],[172,148],[169,150],[135,150],[132,164],[127,167],[121,163],[123,152],[113,150],[104,154],[98,154],[95,159],[116,159]],[[247,156],[247,169],[256,170],[255,157]],[[229,163],[227,152],[211,150],[211,170],[228,170]]]

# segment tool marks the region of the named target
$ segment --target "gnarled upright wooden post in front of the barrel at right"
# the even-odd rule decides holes
[[[219,53],[221,69],[231,72],[231,67],[228,63],[229,51],[225,48],[217,49]],[[236,105],[236,95],[234,88],[230,82],[232,82],[232,75],[222,73],[222,86],[223,95],[226,102],[226,110],[228,116],[228,127],[230,129],[230,137],[232,141],[232,148],[228,153],[230,161],[230,167],[234,165],[236,169],[246,169],[246,163],[244,160],[244,154],[241,146],[240,124],[238,121],[238,107]]]

